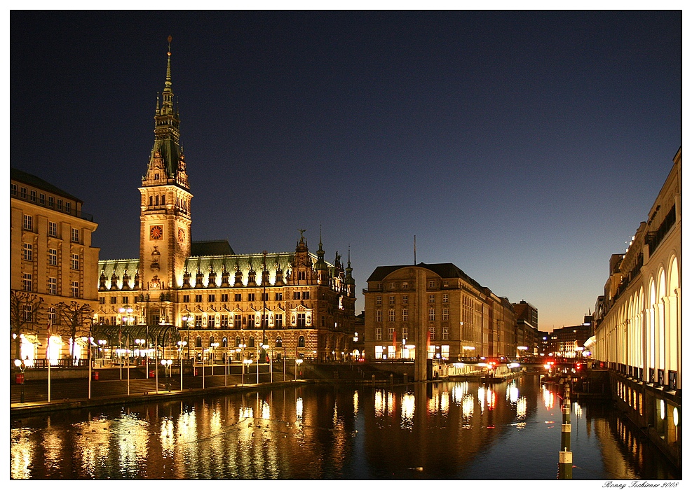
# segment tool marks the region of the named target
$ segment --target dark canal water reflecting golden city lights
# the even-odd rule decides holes
[[[301,384],[11,419],[13,479],[555,480],[562,412],[501,384]],[[572,402],[573,479],[679,479],[606,402]]]

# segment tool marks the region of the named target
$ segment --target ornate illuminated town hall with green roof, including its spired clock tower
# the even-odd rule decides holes
[[[174,106],[170,52],[154,148],[140,187],[140,256],[99,262],[97,322],[108,346],[144,340],[165,356],[240,360],[341,358],[353,339],[350,252],[236,254],[228,241],[192,241],[192,193]],[[266,346],[266,347],[262,347]],[[265,351],[266,349],[266,351]],[[112,355],[108,348],[106,356]],[[342,354],[343,353],[343,354]],[[180,353],[173,354],[176,357]]]

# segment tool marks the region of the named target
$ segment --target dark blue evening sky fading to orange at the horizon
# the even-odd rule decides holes
[[[135,258],[172,35],[193,239],[453,262],[581,323],[681,146],[681,13],[16,12],[11,165]]]

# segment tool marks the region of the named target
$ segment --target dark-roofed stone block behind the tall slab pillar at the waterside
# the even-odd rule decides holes
[[[454,264],[377,267],[363,293],[368,358],[516,355],[512,304]]]

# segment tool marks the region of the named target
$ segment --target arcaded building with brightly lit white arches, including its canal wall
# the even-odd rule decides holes
[[[594,314],[599,365],[611,390],[651,440],[681,464],[682,416],[682,148],[610,275]]]

